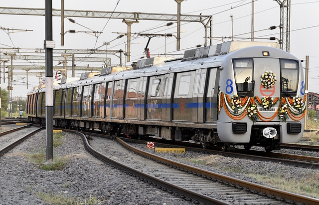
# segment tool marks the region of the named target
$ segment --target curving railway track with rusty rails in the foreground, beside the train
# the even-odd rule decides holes
[[[90,141],[92,143],[90,145],[85,135],[81,135],[86,149],[108,165],[193,204],[317,205],[319,203],[317,199],[276,190],[173,162],[138,150],[119,138],[116,138],[116,140],[125,149],[112,144],[112,147],[110,147],[111,151],[128,153],[124,155],[124,158],[118,155],[108,157],[105,152],[109,149],[105,147],[98,148],[108,143],[101,142],[101,140],[93,140]],[[127,151],[127,149],[130,151]],[[132,151],[136,153],[134,157],[132,156]]]

